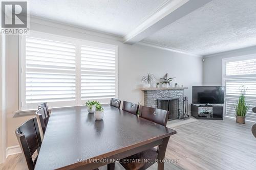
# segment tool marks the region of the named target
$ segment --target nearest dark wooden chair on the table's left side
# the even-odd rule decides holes
[[[25,156],[28,169],[32,170],[35,167],[37,156],[41,147],[41,137],[39,133],[36,118],[31,118],[15,131],[20,148]],[[35,159],[32,155],[37,151]]]

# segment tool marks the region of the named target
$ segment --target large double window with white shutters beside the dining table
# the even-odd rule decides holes
[[[116,45],[31,32],[20,46],[20,110],[117,97]]]

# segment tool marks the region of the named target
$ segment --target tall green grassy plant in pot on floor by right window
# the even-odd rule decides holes
[[[245,100],[245,88],[243,88],[238,96],[238,102],[234,105],[234,110],[236,110],[236,122],[239,124],[245,124],[245,115],[249,109],[250,104],[248,104]]]

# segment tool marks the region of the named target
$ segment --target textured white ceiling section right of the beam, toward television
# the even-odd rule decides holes
[[[143,41],[198,55],[256,45],[256,1],[213,0]]]

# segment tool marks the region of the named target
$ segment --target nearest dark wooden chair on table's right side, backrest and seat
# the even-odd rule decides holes
[[[140,106],[139,111],[140,111],[140,117],[166,127],[169,111],[156,109],[152,107],[146,107],[146,106]],[[158,149],[151,148],[146,151],[140,152],[138,154],[124,158],[128,161],[124,161],[124,159],[121,159],[120,164],[126,170],[134,170],[134,169],[144,170],[150,167],[151,165],[153,165],[154,163],[156,163],[157,158],[158,158]],[[133,162],[129,160],[140,160],[140,161]],[[147,161],[144,161],[144,160],[147,160]]]

